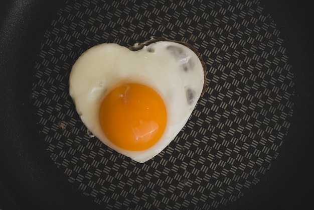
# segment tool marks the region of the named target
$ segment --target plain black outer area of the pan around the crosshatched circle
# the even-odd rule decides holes
[[[293,69],[293,115],[270,169],[238,199],[227,202],[226,206],[219,205],[221,209],[302,207],[309,202],[313,186],[309,158],[312,148],[309,134],[313,117],[313,42],[310,40],[309,4],[301,3],[261,1],[263,14],[270,14],[276,29],[281,32],[281,44],[286,48],[288,63]],[[38,61],[41,43],[45,41],[44,34],[65,3],[9,1],[1,4],[0,181],[8,194],[0,194],[0,208],[110,207],[106,202],[98,204],[92,196],[84,195],[78,190],[79,183],[69,182],[64,168],[56,167],[34,117],[32,69]]]

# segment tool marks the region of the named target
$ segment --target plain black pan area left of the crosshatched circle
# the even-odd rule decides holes
[[[91,198],[79,192],[62,171],[56,170],[46,145],[39,141],[29,103],[34,55],[38,53],[46,27],[64,3],[11,1],[6,4],[0,36],[0,181],[21,209],[43,209],[44,206],[45,209],[79,209],[87,207],[87,203],[96,209],[98,205]]]

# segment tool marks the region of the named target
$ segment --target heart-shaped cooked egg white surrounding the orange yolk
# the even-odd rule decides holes
[[[174,50],[179,50],[179,54]],[[146,150],[128,151],[117,147],[106,138],[100,126],[103,97],[124,82],[151,87],[166,105],[166,130]],[[138,51],[118,44],[97,45],[77,59],[69,77],[70,96],[87,129],[108,147],[140,163],[160,153],[178,135],[192,114],[203,85],[204,70],[198,56],[188,47],[169,41],[155,42]],[[194,96],[189,103],[188,89]]]

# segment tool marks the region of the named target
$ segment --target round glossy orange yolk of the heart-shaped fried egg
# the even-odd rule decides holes
[[[162,97],[146,85],[123,84],[110,91],[101,103],[100,125],[104,134],[125,150],[150,148],[162,137],[166,123]]]

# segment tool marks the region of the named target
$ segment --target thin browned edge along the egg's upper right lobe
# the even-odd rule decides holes
[[[187,42],[171,40],[171,39],[168,39],[168,38],[165,38],[165,37],[151,37],[150,40],[147,40],[147,41],[142,42],[142,43],[136,43],[135,45],[130,46],[128,49],[131,50],[131,51],[137,51],[137,50],[142,49],[144,46],[148,46],[148,45],[150,45],[152,43],[160,42],[160,41],[168,41],[168,42],[175,42],[175,43],[182,44],[182,45],[190,48],[198,56],[198,58],[201,61],[202,66],[203,66],[203,70],[204,70],[204,85],[203,85],[203,90],[202,90],[202,93],[201,93],[201,96],[203,96],[204,92],[206,90],[206,83],[207,83],[207,81],[206,81],[206,75],[207,75],[206,64],[205,64],[205,62],[204,62],[204,60],[202,58],[202,55],[197,51],[197,49],[193,45],[191,45],[191,44],[189,44]]]

